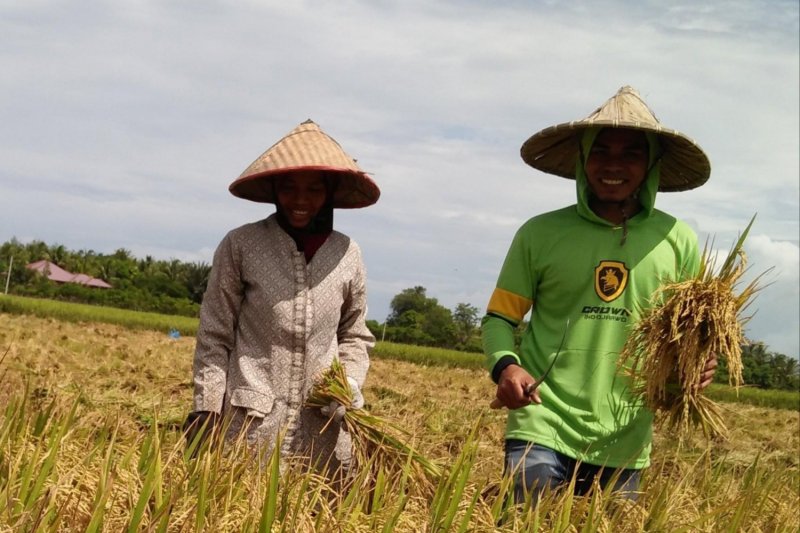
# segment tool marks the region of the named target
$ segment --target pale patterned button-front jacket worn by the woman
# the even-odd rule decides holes
[[[358,245],[334,231],[306,264],[275,215],[228,233],[200,311],[194,357],[194,410],[225,412],[229,437],[248,425],[251,445],[282,453],[312,446],[323,460],[342,433],[303,404],[339,356],[362,386],[375,338],[366,327],[366,274]],[[349,455],[341,443],[337,456]],[[327,456],[326,456],[327,455]]]

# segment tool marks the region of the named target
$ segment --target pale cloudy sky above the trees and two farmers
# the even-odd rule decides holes
[[[746,335],[797,357],[799,34],[796,0],[0,0],[0,242],[210,263],[274,210],[228,185],[310,118],[381,188],[335,215],[368,318],[418,285],[485,309],[516,229],[575,202],[520,146],[631,85],[711,160],[656,207],[721,250],[757,215]]]

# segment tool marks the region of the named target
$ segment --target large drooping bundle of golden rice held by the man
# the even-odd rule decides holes
[[[712,354],[727,362],[729,384],[742,384],[742,328],[749,319],[742,312],[760,289],[761,275],[738,294],[735,289],[746,270],[742,245],[754,220],[719,270],[706,244],[697,276],[662,285],[622,350],[620,363],[633,378],[634,392],[656,414],[656,422],[677,430],[679,437],[697,425],[707,437],[727,433],[719,405],[699,386]]]

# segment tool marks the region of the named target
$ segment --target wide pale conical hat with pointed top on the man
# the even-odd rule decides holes
[[[522,145],[523,161],[535,169],[575,179],[580,140],[590,127],[631,128],[656,133],[661,144],[659,191],[686,191],[704,184],[711,174],[705,152],[692,139],[661,125],[632,87],[622,87],[591,115],[550,126]]]

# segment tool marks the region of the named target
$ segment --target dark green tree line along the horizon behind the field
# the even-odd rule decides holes
[[[102,279],[112,288],[54,283],[25,268],[42,259],[72,273]],[[94,250],[72,251],[63,245],[48,245],[42,241],[22,244],[11,239],[0,245],[0,287],[5,288],[8,281],[11,294],[136,311],[198,316],[210,272],[211,266],[205,262],[165,261],[151,256],[137,259],[124,248],[102,254]],[[482,314],[469,303],[459,303],[454,309],[448,309],[428,296],[425,287],[416,286],[392,298],[390,314],[384,323],[368,320],[367,326],[379,340],[479,353],[482,351]],[[526,325],[523,323],[517,329],[517,339]],[[762,342],[742,346],[742,363],[747,385],[800,390],[797,359],[771,352]],[[727,372],[727,365],[721,360],[716,381],[726,382]]]

